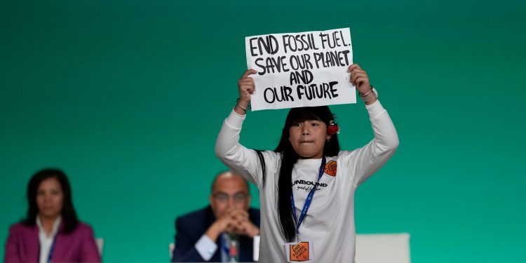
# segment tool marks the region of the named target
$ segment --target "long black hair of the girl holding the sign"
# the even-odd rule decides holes
[[[334,115],[330,112],[328,106],[299,107],[290,109],[287,119],[285,119],[281,139],[274,151],[281,153],[281,167],[278,178],[278,217],[281,231],[283,231],[287,241],[294,241],[296,237],[290,194],[292,194],[292,168],[299,159],[298,154],[292,148],[292,144],[290,144],[289,129],[293,124],[306,120],[323,121],[323,123],[329,127],[330,121],[334,121]],[[337,156],[338,152],[338,136],[336,134],[331,135],[330,140],[325,142],[325,146],[323,147],[323,156]],[[262,159],[262,156],[260,156],[259,159]]]

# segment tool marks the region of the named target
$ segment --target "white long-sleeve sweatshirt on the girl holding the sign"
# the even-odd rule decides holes
[[[353,151],[339,151],[325,156],[325,172],[313,196],[304,222],[299,227],[299,241],[310,241],[313,259],[309,262],[354,262],[356,231],[354,193],[356,187],[381,168],[398,147],[398,135],[379,101],[366,105],[375,138]],[[261,243],[259,262],[288,262],[278,218],[278,175],[281,154],[262,151],[267,175],[262,180],[262,166],[256,151],[239,144],[245,115],[232,111],[224,121],[215,144],[215,153],[229,168],[259,188],[261,208]],[[336,165],[335,163],[336,162]],[[292,194],[296,215],[313,184],[318,180],[321,159],[300,159],[292,169]],[[336,166],[335,176],[330,170]]]

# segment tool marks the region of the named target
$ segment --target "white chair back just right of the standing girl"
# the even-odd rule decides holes
[[[410,263],[410,236],[400,234],[357,234],[356,263]]]

